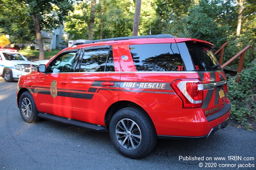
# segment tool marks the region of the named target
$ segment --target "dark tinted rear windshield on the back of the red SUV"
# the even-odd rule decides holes
[[[218,60],[208,46],[189,42],[186,42],[186,46],[194,62],[196,71],[221,70]]]

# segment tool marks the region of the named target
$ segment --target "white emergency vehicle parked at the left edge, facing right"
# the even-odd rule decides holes
[[[17,50],[0,49],[0,76],[6,82],[18,80],[20,76],[29,74],[31,61]]]

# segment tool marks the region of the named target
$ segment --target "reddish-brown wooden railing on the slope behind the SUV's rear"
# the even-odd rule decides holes
[[[228,44],[229,42],[225,42],[221,48],[216,51],[214,54],[216,55],[219,51],[221,51],[221,56],[220,56],[220,59],[219,59],[219,63],[221,65],[221,68],[224,68],[226,67],[227,65],[230,64],[230,62],[233,62],[237,57],[240,56],[240,60],[239,60],[239,65],[238,65],[238,70],[237,72],[238,73],[241,73],[242,69],[243,69],[243,66],[244,66],[244,55],[245,55],[245,52],[248,48],[251,47],[251,45],[247,45],[244,49],[242,49],[239,53],[237,53],[234,57],[232,57],[230,60],[228,60],[227,62],[225,62],[223,65],[222,65],[222,61],[223,61],[223,54],[224,54],[224,48],[225,46]],[[236,82],[239,82],[240,81],[240,76],[238,76],[236,78]]]

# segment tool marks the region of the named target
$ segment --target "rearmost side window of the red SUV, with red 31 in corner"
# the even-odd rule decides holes
[[[175,43],[130,45],[137,71],[186,71]]]

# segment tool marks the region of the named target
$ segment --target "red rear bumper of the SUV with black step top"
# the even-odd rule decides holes
[[[159,138],[207,138],[218,129],[227,127],[231,111],[230,103],[205,116],[201,108],[183,109],[182,112],[149,112]]]

